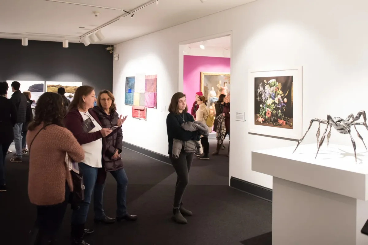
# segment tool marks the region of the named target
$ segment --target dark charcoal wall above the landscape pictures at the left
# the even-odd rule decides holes
[[[102,89],[113,88],[113,54],[106,45],[0,39],[0,81],[82,82]]]

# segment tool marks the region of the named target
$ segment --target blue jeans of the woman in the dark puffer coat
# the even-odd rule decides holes
[[[125,173],[124,168],[118,169],[116,171],[111,171],[110,173],[115,178],[117,183],[116,217],[123,217],[124,215],[127,214],[126,200],[127,200],[128,176]],[[105,188],[105,183],[103,184],[96,183],[95,194],[93,195],[93,208],[95,210],[95,219],[103,219],[106,216],[102,208],[103,189]]]

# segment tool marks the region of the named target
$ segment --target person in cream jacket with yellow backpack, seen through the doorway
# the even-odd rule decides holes
[[[199,96],[197,99],[197,104],[199,105],[198,110],[195,113],[195,121],[202,122],[207,126],[206,120],[209,116],[209,108],[206,105],[206,98],[204,96]],[[212,128],[208,127],[208,133],[212,132]],[[201,136],[201,143],[203,146],[203,156],[199,157],[199,159],[209,159],[209,143],[208,137]]]

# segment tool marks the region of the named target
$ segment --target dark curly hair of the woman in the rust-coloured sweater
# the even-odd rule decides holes
[[[66,114],[63,98],[60,94],[46,92],[37,100],[35,118],[29,125],[29,130],[34,130],[38,125],[56,124],[64,127],[63,118]]]

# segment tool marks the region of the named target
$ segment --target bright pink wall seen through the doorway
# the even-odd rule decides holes
[[[187,95],[189,113],[200,90],[201,72],[230,73],[230,58],[184,55],[183,93]]]

